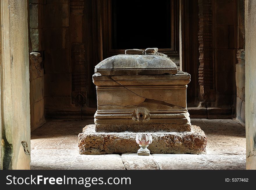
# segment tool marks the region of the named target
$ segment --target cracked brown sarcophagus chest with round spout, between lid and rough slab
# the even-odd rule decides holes
[[[190,131],[186,109],[189,78],[180,71],[176,75],[95,74],[96,130]],[[136,122],[140,118],[143,120]]]

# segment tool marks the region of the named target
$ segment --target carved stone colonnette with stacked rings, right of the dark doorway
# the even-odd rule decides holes
[[[213,47],[212,47],[212,1],[198,0],[199,8],[199,100],[214,101]]]

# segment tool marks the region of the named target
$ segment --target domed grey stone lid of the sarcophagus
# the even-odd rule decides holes
[[[101,75],[177,74],[175,63],[163,55],[141,52],[115,55],[96,65],[95,72]]]

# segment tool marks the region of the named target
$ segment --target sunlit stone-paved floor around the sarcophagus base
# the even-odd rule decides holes
[[[233,120],[192,119],[207,154],[80,155],[78,134],[93,120],[51,121],[31,134],[31,169],[245,169],[245,128]],[[139,148],[139,147],[138,147]],[[150,147],[149,147],[150,149]]]

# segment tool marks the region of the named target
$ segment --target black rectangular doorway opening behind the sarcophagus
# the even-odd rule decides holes
[[[171,48],[171,3],[111,1],[112,48]]]

